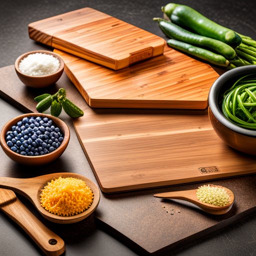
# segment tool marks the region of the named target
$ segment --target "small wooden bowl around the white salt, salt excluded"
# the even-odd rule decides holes
[[[34,75],[27,75],[22,72],[20,72],[18,65],[21,59],[25,58],[27,55],[32,54],[32,53],[46,53],[53,55],[58,58],[60,66],[59,69],[52,74],[49,75],[39,75],[39,76],[34,76]],[[34,50],[34,51],[29,51],[21,56],[19,56],[16,61],[15,61],[15,70],[17,73],[18,78],[27,86],[29,87],[34,87],[34,88],[42,88],[42,87],[47,87],[53,83],[55,83],[61,76],[64,70],[64,61],[63,59],[56,53],[51,52],[51,51],[46,51],[46,50]]]

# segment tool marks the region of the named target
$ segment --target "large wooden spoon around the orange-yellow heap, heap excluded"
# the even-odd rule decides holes
[[[41,192],[41,189],[47,184],[47,182],[60,176],[82,179],[91,188],[94,198],[92,204],[87,210],[73,216],[58,216],[48,212],[40,205],[39,194]],[[25,196],[34,204],[37,210],[45,218],[56,223],[74,223],[86,218],[96,209],[100,197],[99,189],[92,180],[82,175],[69,172],[51,173],[47,175],[37,176],[34,178],[0,177],[0,187],[10,188],[11,190]]]

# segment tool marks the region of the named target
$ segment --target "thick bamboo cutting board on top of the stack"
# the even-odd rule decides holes
[[[29,37],[112,69],[162,54],[164,40],[92,8],[28,25]]]

